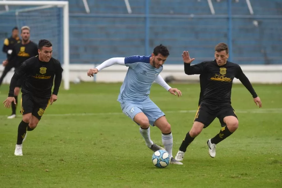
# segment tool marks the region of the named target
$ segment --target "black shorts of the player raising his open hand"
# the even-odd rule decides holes
[[[201,103],[196,112],[194,121],[198,121],[204,124],[204,128],[210,125],[217,117],[221,126],[226,126],[223,119],[226,116],[234,116],[238,119],[235,110],[231,105],[210,105],[207,103]]]

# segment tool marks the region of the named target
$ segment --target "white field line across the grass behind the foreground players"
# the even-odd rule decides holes
[[[196,113],[197,110],[175,110],[165,111],[165,114],[172,113]],[[261,108],[261,109],[246,109],[246,110],[235,110],[237,114],[282,114],[282,108]],[[44,116],[104,116],[104,115],[124,115],[122,112],[106,112],[106,113],[69,113],[69,114],[44,114]],[[7,117],[7,115],[0,115],[0,117]]]

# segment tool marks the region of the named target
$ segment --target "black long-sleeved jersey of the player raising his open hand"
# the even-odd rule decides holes
[[[227,61],[219,66],[216,60],[204,61],[197,65],[184,63],[185,74],[200,74],[200,98],[201,102],[212,105],[231,104],[231,88],[234,78],[238,78],[249,90],[253,98],[257,97],[249,79],[243,73],[238,64]]]

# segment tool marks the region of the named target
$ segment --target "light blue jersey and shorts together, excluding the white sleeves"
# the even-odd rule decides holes
[[[165,114],[149,98],[150,89],[163,66],[155,68],[150,64],[151,56],[130,56],[124,59],[128,68],[124,82],[120,88],[118,101],[122,112],[134,121],[136,114],[143,112],[150,125]]]

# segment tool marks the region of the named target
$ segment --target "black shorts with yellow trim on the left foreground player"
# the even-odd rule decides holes
[[[22,94],[21,113],[23,115],[32,113],[33,116],[40,120],[49,102],[49,99],[40,99],[31,95]]]

